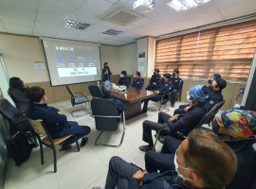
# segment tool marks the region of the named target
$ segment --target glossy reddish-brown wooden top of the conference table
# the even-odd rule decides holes
[[[133,87],[128,87],[127,91],[125,91],[125,92],[119,92],[119,91],[112,90],[111,94],[113,94],[116,98],[119,98],[120,100],[128,101],[130,103],[137,102],[142,99],[146,99],[146,98],[156,95],[155,92],[147,91],[144,89],[139,90],[139,89],[135,89]]]

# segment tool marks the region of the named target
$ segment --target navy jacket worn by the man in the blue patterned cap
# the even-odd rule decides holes
[[[199,123],[199,121],[206,115],[207,109],[204,105],[195,105],[184,113],[183,117],[176,122],[169,121],[167,123],[171,132],[180,131],[186,136]]]

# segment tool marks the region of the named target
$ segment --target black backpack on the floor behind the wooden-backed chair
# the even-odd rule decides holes
[[[27,161],[31,153],[32,146],[27,141],[27,134],[18,131],[12,135],[7,142],[7,149],[9,156],[13,158],[15,164],[19,166],[21,163]]]

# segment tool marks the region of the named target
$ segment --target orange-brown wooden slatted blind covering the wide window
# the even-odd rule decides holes
[[[256,21],[194,32],[156,42],[155,68],[180,77],[247,81],[256,49]]]

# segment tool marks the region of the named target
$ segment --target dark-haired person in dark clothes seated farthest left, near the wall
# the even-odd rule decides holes
[[[27,88],[24,86],[24,81],[19,77],[9,78],[8,94],[12,95],[20,109],[27,109],[29,99],[27,98]]]

